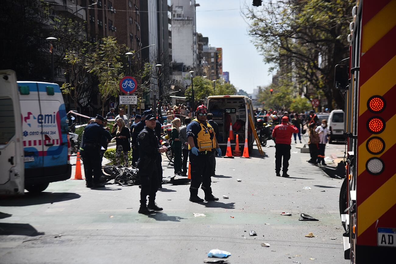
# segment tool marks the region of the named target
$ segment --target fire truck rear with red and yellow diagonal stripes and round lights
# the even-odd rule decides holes
[[[352,16],[349,65],[335,69],[346,101],[347,177],[340,194],[345,258],[394,263],[396,0],[357,1]]]

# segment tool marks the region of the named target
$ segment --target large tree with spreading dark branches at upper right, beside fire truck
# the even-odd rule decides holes
[[[281,78],[292,71],[300,87],[323,90],[332,109],[333,99],[344,106],[333,87],[334,66],[347,57],[353,6],[352,0],[270,0],[261,11],[248,8],[245,16],[264,61],[278,65]]]

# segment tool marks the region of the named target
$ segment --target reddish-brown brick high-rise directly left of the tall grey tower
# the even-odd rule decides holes
[[[116,10],[123,10],[115,15],[115,24],[118,26],[117,41],[119,44],[125,44],[129,51],[138,51],[142,47],[139,0],[113,1]],[[140,52],[135,57],[140,58]]]

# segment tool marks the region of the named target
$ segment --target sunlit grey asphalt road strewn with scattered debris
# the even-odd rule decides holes
[[[156,215],[137,213],[138,186],[90,190],[67,180],[39,196],[0,198],[0,263],[204,263],[211,249],[229,251],[230,263],[348,263],[338,211],[342,180],[307,163],[309,154],[294,144],[291,177],[275,177],[270,144],[265,157],[255,149],[251,159],[217,158],[212,188],[219,201],[192,203],[189,185],[164,185],[156,200],[164,211]],[[164,177],[172,175],[166,160],[163,166]],[[298,221],[301,213],[319,221]],[[305,237],[309,232],[316,237]]]

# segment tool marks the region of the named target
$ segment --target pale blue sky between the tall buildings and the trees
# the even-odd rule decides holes
[[[269,65],[263,62],[252,38],[247,35],[248,25],[240,13],[251,0],[196,0],[197,32],[209,38],[209,45],[223,48],[223,71],[230,72],[230,82],[237,89],[253,93],[259,85],[272,82]],[[219,9],[235,9],[206,11]]]

